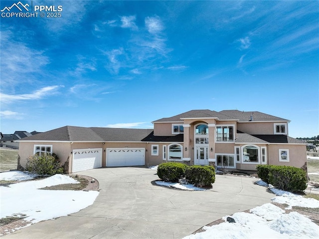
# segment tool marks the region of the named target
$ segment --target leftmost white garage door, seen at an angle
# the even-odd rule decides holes
[[[102,149],[74,149],[72,173],[102,167]]]

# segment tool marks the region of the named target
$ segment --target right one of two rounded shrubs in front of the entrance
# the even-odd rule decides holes
[[[213,166],[189,166],[186,168],[185,179],[195,186],[211,187],[211,184],[215,182],[215,168]]]

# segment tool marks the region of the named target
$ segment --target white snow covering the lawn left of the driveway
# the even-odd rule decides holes
[[[16,178],[15,178],[16,177]],[[11,172],[0,174],[0,178],[19,179],[22,176]],[[60,184],[77,184],[78,181],[69,176],[56,174],[42,180],[11,184],[0,187],[0,218],[14,214],[25,214],[25,221],[33,223],[50,220],[76,213],[93,204],[99,192],[97,191],[65,191],[40,190]]]

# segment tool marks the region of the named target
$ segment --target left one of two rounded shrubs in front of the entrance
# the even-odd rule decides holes
[[[158,166],[158,176],[165,182],[178,182],[178,179],[184,178],[186,167],[182,163],[162,163]]]

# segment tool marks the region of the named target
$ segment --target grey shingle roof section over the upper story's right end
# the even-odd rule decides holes
[[[239,111],[239,110],[222,110],[219,113],[228,115],[234,119],[238,119],[239,122],[250,121],[250,116],[252,115],[253,121],[290,121],[277,116],[261,113],[259,111]]]

